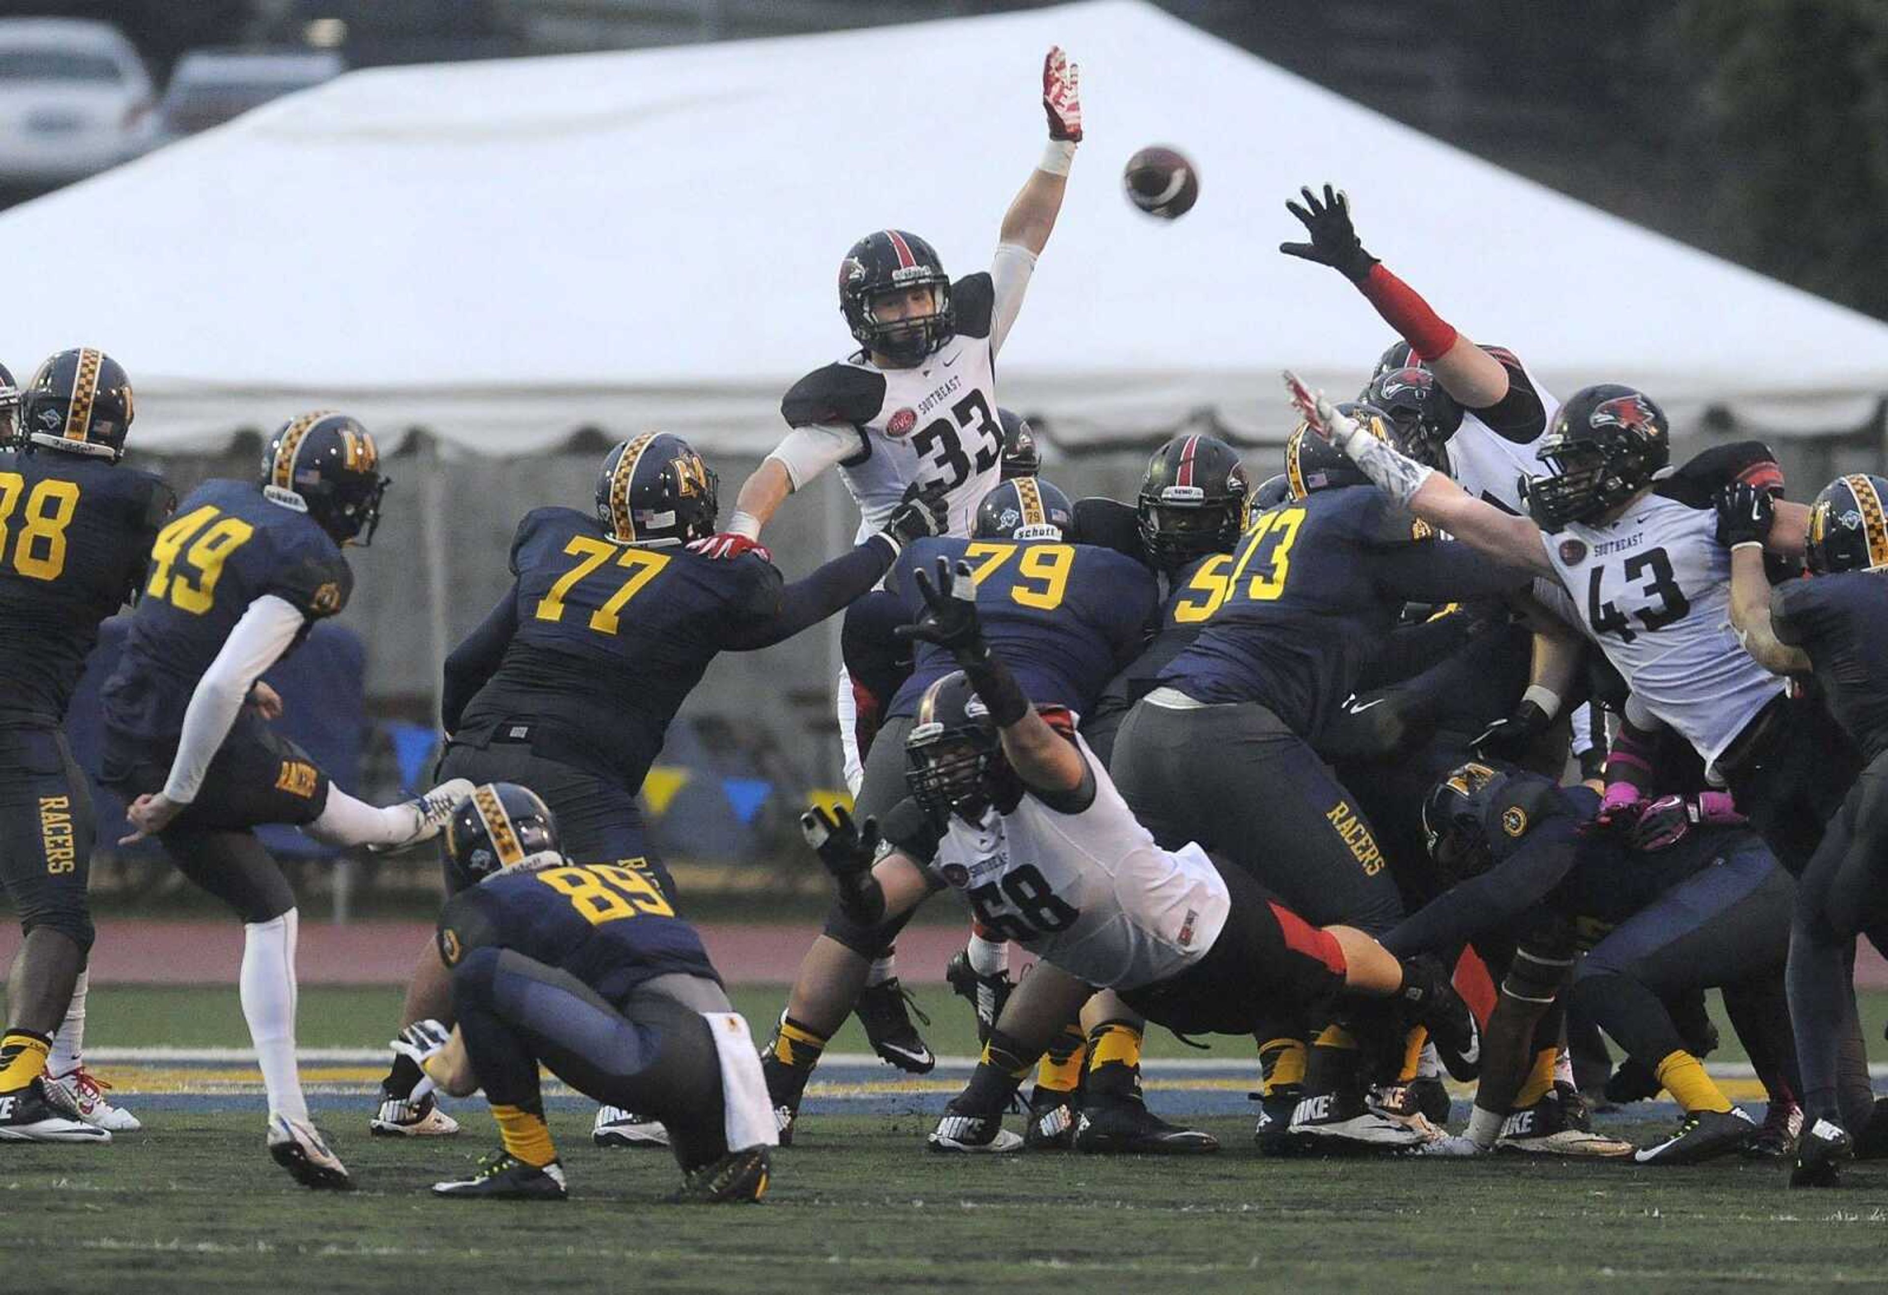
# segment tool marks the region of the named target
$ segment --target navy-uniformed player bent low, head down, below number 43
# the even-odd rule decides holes
[[[1510,1116],[1552,1084],[1552,1057],[1531,1059],[1526,1042],[1561,991],[1684,1108],[1678,1131],[1635,1161],[1692,1165],[1758,1135],[1705,1074],[1667,1001],[1712,987],[1735,997],[1780,978],[1795,887],[1722,791],[1661,797],[1629,836],[1580,834],[1595,800],[1588,787],[1469,763],[1424,802],[1429,853],[1458,885],[1399,923],[1384,948],[1410,957],[1492,933],[1516,946],[1469,1133],[1425,1152],[1478,1153],[1499,1136],[1516,1150],[1627,1153],[1576,1129],[1542,1136]]]

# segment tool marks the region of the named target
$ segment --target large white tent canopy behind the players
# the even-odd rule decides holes
[[[145,447],[313,404],[517,453],[582,425],[761,453],[780,393],[850,347],[859,234],[989,261],[1042,140],[1050,43],[1087,142],[1003,355],[1004,404],[1067,440],[1201,410],[1290,427],[1278,370],[1354,391],[1390,340],[1280,257],[1299,183],[1565,395],[1631,381],[1682,425],[1860,421],[1888,327],[1518,179],[1135,0],[831,36],[357,72],[0,215],[15,370],[87,344],[138,385]],[[1188,151],[1199,208],[1131,210],[1121,164]],[[1397,159],[1386,166],[1386,159]],[[1422,185],[1397,177],[1422,176]],[[25,374],[21,374],[25,378]]]

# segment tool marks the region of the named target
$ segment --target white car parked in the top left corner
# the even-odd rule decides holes
[[[115,26],[0,19],[0,183],[60,185],[138,157],[155,102]]]

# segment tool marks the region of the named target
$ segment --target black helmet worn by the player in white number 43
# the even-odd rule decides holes
[[[1671,462],[1671,430],[1652,396],[1620,383],[1575,391],[1535,451],[1548,476],[1527,478],[1527,515],[1542,530],[1593,521],[1652,485]]]

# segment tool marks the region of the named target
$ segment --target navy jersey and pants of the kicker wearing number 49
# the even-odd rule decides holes
[[[262,498],[253,481],[191,491],[151,547],[143,597],[100,693],[102,782],[126,797],[164,785],[196,681],[251,602],[276,597],[302,614],[293,651],[308,625],[346,608],[351,593],[347,559],[306,513]],[[327,795],[327,774],[308,753],[244,710],[174,823],[310,823]]]

